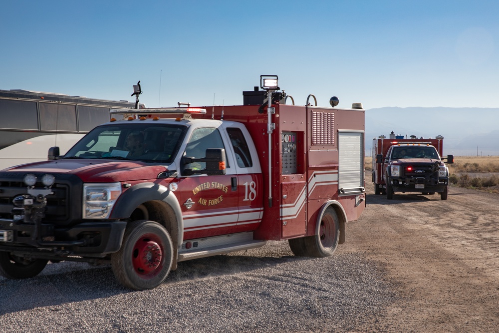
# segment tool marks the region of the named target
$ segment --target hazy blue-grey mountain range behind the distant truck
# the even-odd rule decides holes
[[[366,155],[383,134],[444,136],[444,154],[499,155],[499,108],[382,107],[366,110]]]

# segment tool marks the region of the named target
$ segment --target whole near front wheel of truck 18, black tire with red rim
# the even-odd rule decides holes
[[[145,290],[165,281],[173,263],[173,242],[157,222],[131,222],[118,252],[111,255],[111,267],[123,286]]]

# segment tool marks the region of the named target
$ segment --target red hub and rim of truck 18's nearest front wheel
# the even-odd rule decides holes
[[[163,267],[163,243],[154,234],[145,234],[137,240],[132,251],[132,263],[135,272],[152,278]]]

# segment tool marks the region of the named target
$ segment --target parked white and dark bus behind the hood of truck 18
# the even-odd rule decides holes
[[[109,121],[111,108],[135,108],[135,103],[0,90],[0,170],[46,160],[53,146],[64,154],[92,128]]]

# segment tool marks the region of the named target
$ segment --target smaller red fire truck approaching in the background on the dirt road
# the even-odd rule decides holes
[[[454,156],[443,156],[444,137],[435,139],[380,135],[373,139],[372,179],[375,194],[393,198],[395,192],[440,193],[446,200],[449,192],[449,169],[444,160],[454,163]]]

